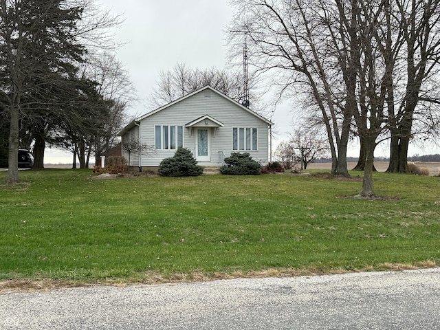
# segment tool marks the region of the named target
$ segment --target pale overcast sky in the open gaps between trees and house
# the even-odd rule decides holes
[[[191,68],[227,65],[225,30],[230,25],[232,8],[228,0],[99,0],[103,9],[119,14],[124,22],[115,30],[115,41],[123,43],[117,58],[128,69],[140,102],[129,113],[146,113],[146,98],[151,95],[159,72],[185,63]],[[273,118],[278,133],[274,140],[287,140],[292,131],[289,104],[276,107]],[[275,148],[275,146],[274,146]],[[384,151],[382,151],[384,150]],[[414,153],[439,153],[415,151]],[[376,155],[387,155],[378,147]],[[357,156],[358,148],[349,150]],[[412,153],[410,152],[410,155]],[[45,163],[72,162],[70,153],[48,149]]]

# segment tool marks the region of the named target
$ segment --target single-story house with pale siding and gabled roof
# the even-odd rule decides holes
[[[119,135],[153,147],[132,152],[130,166],[157,168],[179,146],[190,149],[201,166],[221,166],[231,153],[248,152],[265,165],[272,122],[210,86],[194,91],[130,122]],[[128,159],[128,153],[122,151]]]

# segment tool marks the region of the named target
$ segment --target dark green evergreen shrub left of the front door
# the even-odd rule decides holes
[[[173,157],[165,158],[159,164],[159,175],[164,177],[197,177],[203,173],[203,167],[187,148],[178,148]]]

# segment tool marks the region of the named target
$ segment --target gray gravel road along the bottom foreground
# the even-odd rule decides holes
[[[0,296],[0,329],[440,329],[440,268]]]

